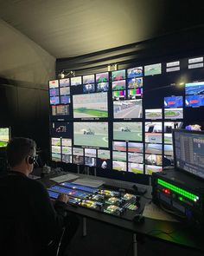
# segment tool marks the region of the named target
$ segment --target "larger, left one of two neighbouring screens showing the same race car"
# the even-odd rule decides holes
[[[108,148],[108,122],[73,122],[73,144]]]

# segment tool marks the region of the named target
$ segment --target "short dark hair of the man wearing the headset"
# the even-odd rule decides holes
[[[10,167],[20,164],[27,155],[33,155],[36,143],[32,139],[16,137],[9,141],[6,153]]]

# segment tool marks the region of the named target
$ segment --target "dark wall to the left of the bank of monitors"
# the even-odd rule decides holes
[[[0,78],[0,127],[11,136],[29,137],[48,154],[48,90]]]

